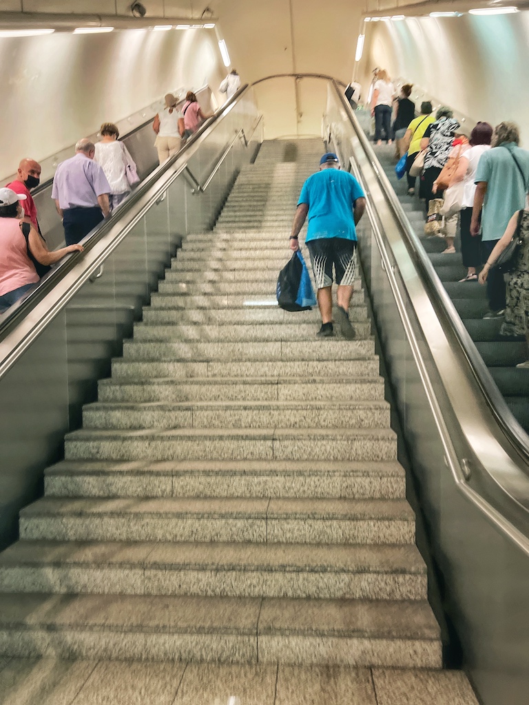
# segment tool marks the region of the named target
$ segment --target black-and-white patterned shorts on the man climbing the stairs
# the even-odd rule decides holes
[[[356,242],[345,238],[320,238],[307,243],[317,289],[332,286],[353,286],[356,274]]]

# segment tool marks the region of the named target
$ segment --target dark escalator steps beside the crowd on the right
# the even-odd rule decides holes
[[[406,179],[398,180],[394,171],[393,149],[376,150],[377,158],[394,188],[410,224],[432,262],[437,276],[448,293],[470,338],[487,365],[492,379],[504,396],[513,417],[529,432],[529,375],[516,369],[518,362],[526,359],[525,338],[500,336],[502,319],[483,319],[487,312],[485,287],[478,282],[460,282],[466,276],[461,262],[459,231],[455,240],[456,255],[442,255],[444,240],[424,237],[424,206],[418,197],[406,193]]]

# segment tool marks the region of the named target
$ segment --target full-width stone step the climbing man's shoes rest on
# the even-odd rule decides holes
[[[371,339],[345,341],[324,338],[315,341],[259,341],[253,343],[200,343],[198,341],[123,341],[124,360],[351,360],[373,355]]]

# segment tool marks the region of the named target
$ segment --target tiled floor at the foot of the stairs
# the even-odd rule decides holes
[[[0,705],[478,705],[461,671],[13,658]]]

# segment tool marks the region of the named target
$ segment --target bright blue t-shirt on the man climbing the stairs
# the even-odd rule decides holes
[[[364,192],[347,171],[325,168],[305,181],[298,205],[308,205],[308,231],[305,242],[320,238],[356,240],[353,208]]]

